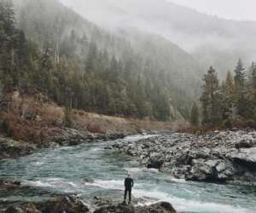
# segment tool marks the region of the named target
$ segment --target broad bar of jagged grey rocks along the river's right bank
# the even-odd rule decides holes
[[[256,184],[256,131],[170,133],[140,141],[116,141],[107,149],[136,156],[148,168],[187,181]]]

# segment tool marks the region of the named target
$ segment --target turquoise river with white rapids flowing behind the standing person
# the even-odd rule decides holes
[[[141,137],[124,140],[136,142]],[[85,201],[94,196],[121,199],[123,181],[130,171],[135,180],[134,197],[144,198],[148,204],[168,201],[180,213],[256,212],[256,187],[177,180],[169,174],[144,169],[136,158],[105,150],[105,144],[41,150],[25,158],[0,162],[0,178],[16,178],[25,186],[15,194],[0,193],[0,202],[42,200],[63,193],[77,193]]]

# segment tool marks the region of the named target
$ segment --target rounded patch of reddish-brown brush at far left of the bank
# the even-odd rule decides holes
[[[0,119],[9,124],[15,140],[39,142],[55,135],[63,122],[64,112],[52,102],[35,101],[34,97],[15,92],[6,97],[8,109],[2,110]]]

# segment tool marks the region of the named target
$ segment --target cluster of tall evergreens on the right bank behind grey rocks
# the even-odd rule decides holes
[[[203,78],[201,124],[210,127],[256,127],[256,64],[249,69],[238,60],[234,75],[227,72],[220,83],[218,73],[211,66]],[[191,124],[198,126],[199,109],[191,110]]]

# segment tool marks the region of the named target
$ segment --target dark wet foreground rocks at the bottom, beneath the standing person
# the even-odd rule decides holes
[[[0,190],[13,193],[21,190],[20,181],[0,180]],[[90,206],[90,207],[89,207]],[[40,202],[19,202],[0,206],[1,213],[176,213],[172,204],[159,202],[151,205],[123,204],[95,197],[84,203],[77,195],[62,195]]]

